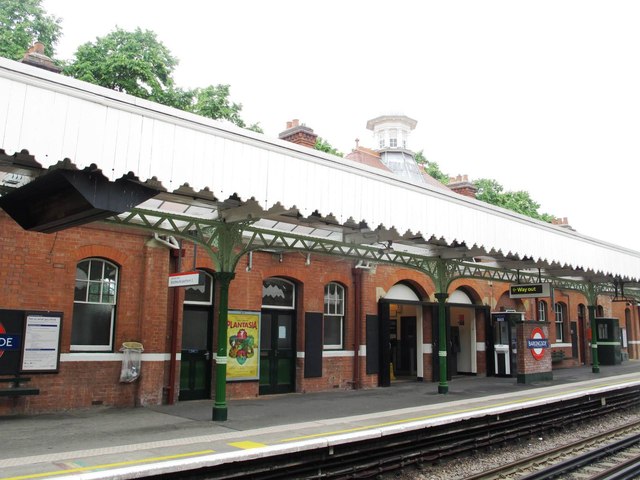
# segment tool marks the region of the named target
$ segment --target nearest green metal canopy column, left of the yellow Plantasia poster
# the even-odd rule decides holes
[[[229,312],[229,284],[236,276],[233,272],[214,273],[219,286],[218,298],[218,348],[216,350],[216,396],[211,419],[223,422],[227,419],[227,314]]]

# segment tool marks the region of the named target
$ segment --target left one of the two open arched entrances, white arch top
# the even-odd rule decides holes
[[[416,292],[397,283],[384,296],[388,305],[390,380],[416,380],[424,375],[422,304]],[[384,336],[384,335],[383,335]]]

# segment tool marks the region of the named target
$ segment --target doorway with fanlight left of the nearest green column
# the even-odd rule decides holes
[[[203,273],[204,284],[184,292],[178,400],[211,398],[213,277]]]

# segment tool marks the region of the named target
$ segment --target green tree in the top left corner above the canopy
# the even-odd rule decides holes
[[[53,58],[60,38],[60,19],[48,15],[42,0],[0,1],[0,56],[20,60],[35,42],[45,46]]]

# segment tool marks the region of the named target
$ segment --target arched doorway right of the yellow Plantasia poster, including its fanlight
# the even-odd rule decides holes
[[[284,278],[262,283],[260,395],[295,391],[296,286]]]

